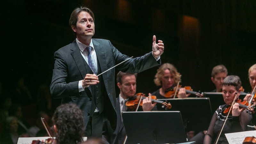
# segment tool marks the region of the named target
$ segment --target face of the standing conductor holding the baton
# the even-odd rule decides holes
[[[86,38],[92,38],[95,33],[95,25],[92,16],[88,12],[80,12],[76,26],[72,25],[72,29],[76,32],[76,37],[80,41]]]

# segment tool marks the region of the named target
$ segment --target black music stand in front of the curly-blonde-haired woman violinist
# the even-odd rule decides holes
[[[189,131],[207,130],[212,119],[212,109],[209,98],[175,98],[158,99],[171,103],[171,109],[165,109],[157,104],[157,110],[180,111],[184,128]]]

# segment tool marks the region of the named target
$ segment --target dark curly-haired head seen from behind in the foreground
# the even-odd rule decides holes
[[[81,109],[76,104],[67,103],[57,107],[52,121],[57,144],[80,144],[83,142],[84,118]]]

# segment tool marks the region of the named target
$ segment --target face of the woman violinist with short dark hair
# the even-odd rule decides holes
[[[232,100],[236,93],[236,87],[233,85],[223,85],[222,87],[222,96],[227,105],[232,103]],[[238,99],[238,96],[240,95],[240,90],[237,93],[236,99]]]

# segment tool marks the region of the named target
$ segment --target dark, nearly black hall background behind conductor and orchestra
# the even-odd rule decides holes
[[[95,14],[93,37],[109,39],[128,56],[150,52],[153,35],[163,40],[162,63],[178,69],[183,86],[213,90],[212,68],[224,64],[229,75],[240,76],[245,92],[251,91],[256,1],[12,0],[1,5],[0,82],[7,97],[20,77],[32,95],[40,84],[50,85],[54,52],[75,39],[68,20],[79,5]],[[158,89],[156,69],[138,74],[137,92]]]

